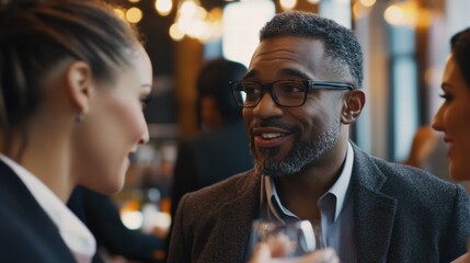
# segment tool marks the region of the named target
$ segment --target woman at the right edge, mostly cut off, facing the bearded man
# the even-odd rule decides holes
[[[466,181],[470,180],[470,27],[454,35],[450,44],[442,83],[445,101],[432,126],[444,133],[450,176]],[[469,253],[455,262],[470,262]]]

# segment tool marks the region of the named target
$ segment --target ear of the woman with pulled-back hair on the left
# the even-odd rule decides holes
[[[91,68],[83,61],[72,62],[67,70],[67,88],[77,114],[88,113],[93,92]]]

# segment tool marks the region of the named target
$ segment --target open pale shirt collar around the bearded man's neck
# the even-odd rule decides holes
[[[346,160],[344,162],[343,171],[341,172],[340,176],[337,178],[336,182],[331,186],[331,188],[322,195],[323,198],[328,194],[333,194],[336,197],[336,206],[335,206],[335,214],[334,214],[334,220],[337,219],[340,216],[340,211],[343,209],[347,188],[349,186],[351,182],[351,175],[353,173],[353,162],[354,162],[354,150],[351,144],[347,144],[347,152],[346,152]],[[289,209],[287,209],[279,199],[279,196],[277,194],[276,185],[274,184],[274,180],[271,176],[264,175],[264,187],[266,191],[266,197],[267,197],[267,205],[270,207],[270,210],[274,213],[274,215],[282,219],[278,215],[278,210],[283,213],[286,216],[289,217],[296,217]],[[277,207],[277,208],[275,208]]]

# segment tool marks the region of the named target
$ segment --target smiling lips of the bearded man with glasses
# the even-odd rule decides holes
[[[283,144],[289,135],[290,130],[277,127],[259,127],[253,128],[254,145],[260,148],[276,147]]]

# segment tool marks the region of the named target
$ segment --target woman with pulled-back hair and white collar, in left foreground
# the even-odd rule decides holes
[[[136,32],[101,1],[0,5],[0,262],[90,262],[65,203],[76,185],[122,188],[151,83]]]

